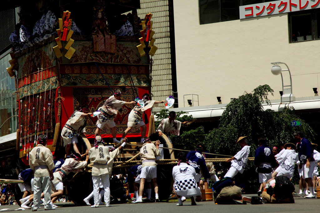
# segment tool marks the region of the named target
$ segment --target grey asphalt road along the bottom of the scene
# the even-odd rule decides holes
[[[249,195],[246,195],[249,196]],[[251,195],[253,196],[253,195]],[[99,208],[91,208],[90,206],[74,206],[71,203],[57,203],[59,207],[50,212],[91,212],[91,213],[108,213],[111,212],[226,212],[226,213],[250,213],[250,212],[319,212],[320,199],[306,199],[303,197],[295,197],[293,204],[260,204],[260,205],[216,205],[213,201],[204,201],[197,203],[197,206],[191,206],[190,201],[185,201],[183,206],[176,206],[176,202],[160,202],[160,203],[125,203],[114,204],[111,207],[100,206]],[[18,210],[19,206],[0,206],[0,212],[9,210]],[[6,209],[9,208],[9,209]],[[21,208],[20,208],[21,209]],[[19,211],[19,210],[18,210]],[[44,208],[38,209],[37,212],[44,211]],[[31,209],[23,210],[23,212],[31,212]],[[48,211],[47,211],[48,212]]]

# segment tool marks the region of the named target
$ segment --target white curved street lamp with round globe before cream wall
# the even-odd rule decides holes
[[[281,81],[282,81],[282,91],[283,94],[281,96],[281,102],[290,102],[295,101],[296,97],[292,94],[292,79],[291,79],[291,73],[288,65],[283,62],[272,62],[274,66],[271,67],[271,73],[273,75],[279,75],[281,74]],[[287,69],[282,69],[279,64],[284,64]],[[288,71],[290,75],[290,85],[283,85],[283,77],[282,77],[282,71]]]

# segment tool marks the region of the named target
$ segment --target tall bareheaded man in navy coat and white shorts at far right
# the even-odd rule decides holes
[[[313,189],[313,170],[315,168],[315,159],[313,158],[313,150],[311,142],[304,138],[304,135],[300,131],[293,133],[294,138],[297,142],[300,142],[299,160],[301,162],[300,168],[302,168],[302,178],[305,179],[309,188]],[[310,194],[305,198],[315,198],[314,190],[310,190]]]

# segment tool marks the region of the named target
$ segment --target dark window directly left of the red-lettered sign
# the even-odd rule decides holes
[[[239,19],[239,6],[270,0],[199,0],[200,24]]]

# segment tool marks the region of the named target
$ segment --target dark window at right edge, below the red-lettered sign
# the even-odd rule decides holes
[[[320,18],[320,10],[289,13],[289,42],[295,43],[320,39],[320,25],[317,17]]]

